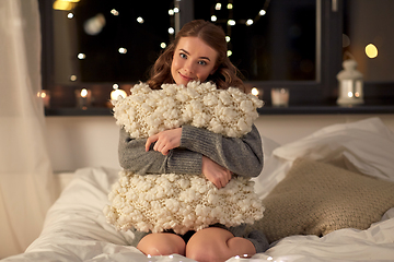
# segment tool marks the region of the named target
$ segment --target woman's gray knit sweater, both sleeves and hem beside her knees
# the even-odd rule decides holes
[[[120,129],[120,166],[139,175],[146,174],[189,174],[200,175],[202,155],[228,168],[235,175],[257,177],[263,169],[262,139],[255,126],[242,138],[224,138],[221,134],[192,126],[182,127],[181,146],[167,155],[151,150],[146,152],[147,139],[131,139]],[[262,233],[251,231],[246,225],[227,228],[235,237],[244,237],[253,242],[257,252],[264,252],[268,242]],[[136,246],[148,233],[132,230]]]

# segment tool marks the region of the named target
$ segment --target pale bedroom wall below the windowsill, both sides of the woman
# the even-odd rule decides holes
[[[262,135],[285,144],[329,124],[380,117],[394,132],[394,115],[263,115],[256,120]],[[46,117],[47,142],[55,172],[82,167],[119,168],[118,127],[111,116]]]

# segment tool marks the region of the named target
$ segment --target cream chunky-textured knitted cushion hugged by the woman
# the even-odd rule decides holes
[[[228,138],[251,132],[263,102],[237,88],[217,90],[210,82],[163,84],[151,90],[139,83],[131,95],[115,103],[114,117],[131,138],[148,138],[160,131],[190,124]],[[186,164],[185,164],[186,165]],[[199,230],[220,223],[227,227],[253,224],[263,217],[262,200],[248,177],[233,177],[221,189],[200,176],[157,174],[139,176],[123,170],[104,207],[117,229],[136,228],[176,234]]]

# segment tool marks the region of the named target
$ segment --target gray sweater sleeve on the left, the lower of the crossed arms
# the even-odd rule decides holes
[[[167,155],[150,150],[146,152],[147,139],[131,139],[120,129],[119,164],[129,171],[146,174],[201,174],[202,154],[186,148],[171,150]]]

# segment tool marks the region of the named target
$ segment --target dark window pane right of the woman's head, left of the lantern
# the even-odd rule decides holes
[[[332,17],[329,13],[322,20],[327,7],[321,0],[232,1],[231,9],[222,4],[220,10],[215,2],[195,1],[195,19],[211,20],[215,15],[216,24],[231,37],[232,62],[250,86],[264,91],[264,100],[269,102],[271,87],[289,87],[297,103],[321,100],[328,95],[323,94],[322,82],[329,79],[325,69],[328,64],[321,61],[329,50],[322,45],[327,37],[322,31]],[[229,25],[230,20],[235,25]],[[248,20],[253,24],[247,26]]]

